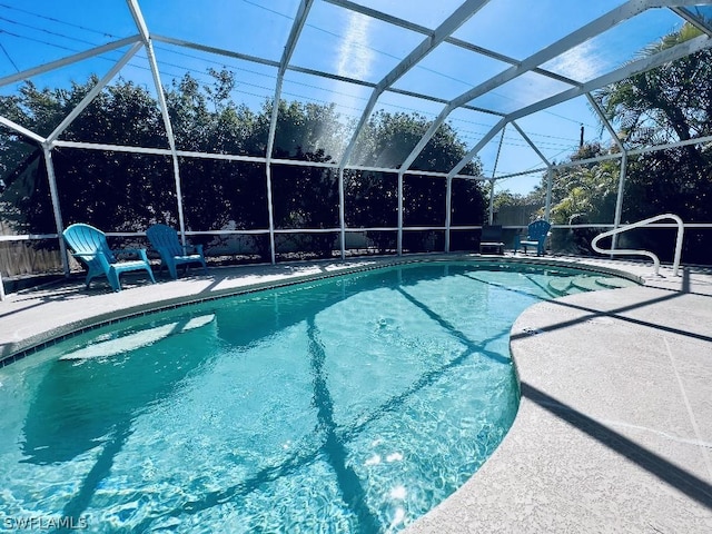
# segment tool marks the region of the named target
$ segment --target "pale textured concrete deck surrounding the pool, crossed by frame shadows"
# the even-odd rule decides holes
[[[469,258],[478,255],[403,259]],[[630,261],[525,260],[613,268],[645,284],[540,303],[517,318],[514,425],[463,487],[406,532],[712,532],[712,273],[673,277],[663,267],[652,277],[650,265]],[[97,318],[394,261],[210,268],[156,285],[129,276],[118,294],[69,279],[11,294],[0,303],[0,360]]]

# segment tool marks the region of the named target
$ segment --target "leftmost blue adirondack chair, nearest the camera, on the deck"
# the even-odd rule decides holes
[[[106,276],[111,289],[120,291],[119,275],[130,270],[146,270],[151,283],[156,284],[146,249],[123,248],[111,250],[103,231],[81,222],[68,226],[62,233],[62,237],[67,246],[72,250],[72,256],[80,259],[87,267],[87,279],[85,280],[87,288],[89,283],[97,276]],[[120,261],[117,256],[125,254],[138,256],[139,259]]]

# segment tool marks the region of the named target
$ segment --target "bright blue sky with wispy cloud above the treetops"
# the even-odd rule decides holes
[[[461,0],[359,0],[357,3],[434,29],[455,10]],[[623,0],[492,0],[464,23],[454,37],[523,60],[552,44],[580,26],[594,20]],[[139,0],[151,33],[279,60],[298,0]],[[167,9],[170,6],[170,9]],[[682,20],[670,10],[642,13],[599,38],[592,39],[544,65],[550,71],[586,81],[632,59],[644,46],[680,28]],[[120,0],[0,0],[0,78],[58,60],[89,48],[136,34],[128,7]],[[422,40],[423,34],[350,12],[316,0],[291,63],[378,82]],[[271,67],[224,58],[166,43],[156,44],[161,79],[169,85],[186,72],[208,82],[208,68],[236,72],[236,101],[259,106],[274,96],[276,70]],[[81,82],[89,72],[102,76],[126,49],[82,61],[33,78],[40,86]],[[150,72],[141,52],[121,71],[126,79],[151,89]],[[443,43],[395,88],[443,99],[455,98],[508,65],[451,43]],[[473,100],[473,106],[510,112],[554,95],[570,86],[536,73],[527,73]],[[0,88],[3,95],[17,85]],[[335,102],[344,116],[357,119],[370,89],[354,83],[288,71],[283,98],[305,102]],[[387,92],[376,109],[416,111],[435,118],[442,103]],[[459,109],[448,117],[461,138],[474,146],[498,120],[497,116]],[[565,159],[578,144],[581,126],[587,141],[607,144],[585,98],[540,111],[517,121],[544,155]],[[543,166],[513,127],[495,138],[479,154],[487,177],[503,176]],[[498,155],[498,157],[497,157]],[[496,165],[496,169],[495,169]],[[540,174],[502,180],[497,189],[525,194],[540,181]]]

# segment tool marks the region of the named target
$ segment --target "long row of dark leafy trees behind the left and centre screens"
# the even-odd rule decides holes
[[[264,157],[267,151],[271,101],[254,111],[233,100],[236,80],[228,70],[210,70],[201,85],[190,75],[174,80],[166,91],[176,148],[215,155]],[[39,90],[31,82],[12,97],[0,97],[0,112],[43,136],[51,134],[98,82],[69,89]],[[350,137],[334,105],[280,101],[271,157],[316,164],[338,161]],[[362,136],[358,157],[368,165],[393,167],[403,162],[429,122],[413,113],[376,113]],[[168,149],[169,136],[154,95],[119,79],[103,88],[61,132],[61,139],[117,146]],[[4,192],[3,220],[23,231],[52,231],[53,214],[42,151],[9,131],[0,139],[0,178]],[[419,170],[454,167],[465,147],[444,125],[415,161]],[[89,222],[99,228],[141,231],[152,222],[178,224],[174,162],[166,155],[55,148],[52,150],[59,205],[65,225]],[[179,186],[188,229],[267,229],[268,197],[264,164],[218,158],[180,157]],[[469,165],[466,171],[476,174]],[[273,161],[273,214],[276,228],[338,227],[338,175],[324,167],[286,166]],[[462,187],[462,186],[458,186]],[[347,171],[349,225],[396,226],[395,177]],[[404,186],[407,224],[444,225],[445,179],[411,176]],[[482,194],[469,182],[454,201],[463,220],[482,219]],[[296,246],[330,255],[333,234],[305,234]],[[425,240],[428,236],[417,239]],[[416,240],[417,240],[416,239]],[[256,246],[266,257],[265,239]],[[294,244],[291,244],[294,245]],[[385,246],[385,245],[384,245]],[[422,243],[409,243],[413,249]]]

